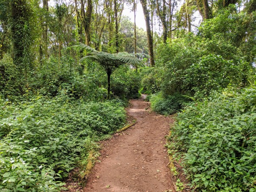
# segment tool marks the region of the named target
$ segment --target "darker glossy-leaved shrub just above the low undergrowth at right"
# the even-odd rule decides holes
[[[184,87],[194,93],[199,91],[208,95],[212,90],[226,88],[228,85],[244,86],[250,74],[247,62],[235,65],[231,60],[225,60],[220,55],[207,55],[199,63],[192,64],[185,70]]]

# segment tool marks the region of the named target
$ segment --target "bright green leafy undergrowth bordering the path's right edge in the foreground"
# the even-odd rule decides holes
[[[185,172],[201,191],[256,190],[256,86],[188,105],[172,130]]]

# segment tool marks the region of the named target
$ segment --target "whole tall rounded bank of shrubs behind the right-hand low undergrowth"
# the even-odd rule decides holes
[[[197,91],[207,95],[228,85],[244,87],[253,71],[228,41],[188,35],[158,50],[155,75],[164,96],[176,92],[193,96]]]

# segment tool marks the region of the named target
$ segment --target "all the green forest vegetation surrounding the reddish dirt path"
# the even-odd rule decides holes
[[[0,0],[0,191],[65,190],[145,93],[192,190],[254,192],[255,67],[255,0]]]

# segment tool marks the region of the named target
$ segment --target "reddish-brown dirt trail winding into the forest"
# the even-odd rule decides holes
[[[149,113],[149,103],[131,100],[134,126],[102,142],[97,162],[84,192],[175,192],[168,165],[165,135],[171,118]]]

